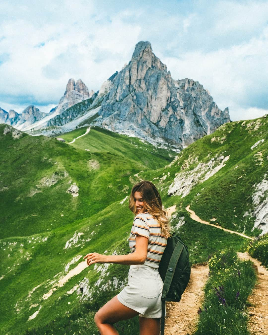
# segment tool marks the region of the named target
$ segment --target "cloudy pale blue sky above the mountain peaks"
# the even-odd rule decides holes
[[[268,114],[268,1],[1,0],[0,107],[48,113],[70,78],[97,91],[149,41],[231,121]]]

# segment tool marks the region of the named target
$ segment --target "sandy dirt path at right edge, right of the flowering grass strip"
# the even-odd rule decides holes
[[[238,252],[242,260],[251,260],[258,271],[258,282],[248,297],[249,303],[249,327],[253,334],[268,334],[268,270],[257,259],[252,258],[247,252]]]

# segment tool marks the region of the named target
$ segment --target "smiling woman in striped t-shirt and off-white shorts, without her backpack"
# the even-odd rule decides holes
[[[158,265],[170,234],[170,224],[153,183],[143,180],[132,187],[129,209],[136,214],[129,236],[128,255],[84,256],[87,264],[130,265],[128,283],[123,290],[98,310],[94,320],[100,334],[118,334],[115,322],[139,315],[141,335],[159,335],[163,281]]]

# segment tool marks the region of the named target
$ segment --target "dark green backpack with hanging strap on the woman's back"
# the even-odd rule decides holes
[[[158,272],[163,280],[161,335],[164,335],[165,302],[181,300],[190,280],[191,267],[187,246],[176,232],[171,233],[159,263]]]

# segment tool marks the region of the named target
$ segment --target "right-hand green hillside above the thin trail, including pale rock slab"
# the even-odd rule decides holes
[[[253,229],[258,204],[252,196],[263,192],[258,203],[267,198],[268,190],[259,187],[268,179],[267,140],[267,115],[227,123],[189,145],[168,166],[139,176],[153,180],[165,205],[176,204],[180,215],[188,216],[190,205],[203,220],[214,218],[224,228],[258,236],[262,230]]]

